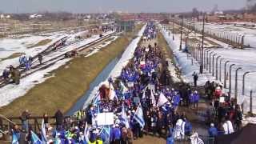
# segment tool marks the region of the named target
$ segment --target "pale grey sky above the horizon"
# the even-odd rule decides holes
[[[0,0],[0,11],[25,13],[37,11],[70,11],[94,13],[122,10],[127,12],[181,12],[241,9],[246,0]]]

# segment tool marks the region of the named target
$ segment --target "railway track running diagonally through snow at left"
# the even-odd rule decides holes
[[[94,45],[98,44],[99,42],[102,42],[102,41],[106,40],[107,38],[110,38],[110,37],[114,36],[115,34],[117,34],[117,32],[114,32],[114,33],[111,33],[111,34],[107,34],[105,36],[102,36],[102,38],[99,38],[99,39],[97,39],[97,40],[95,40],[93,42],[86,43],[85,45],[79,46],[76,49],[72,49],[72,50],[77,50],[78,52],[82,51],[82,50],[85,50],[85,49],[89,48],[90,46],[94,46]],[[78,42],[81,42],[81,41],[78,41]],[[78,42],[74,42],[73,44],[78,43]],[[72,45],[72,44],[70,44],[70,45]],[[63,46],[63,47],[66,47],[66,46]],[[31,69],[28,70],[28,71],[26,71],[25,68],[22,68],[22,67],[19,66],[18,69],[19,69],[19,71],[21,73],[21,78],[25,78],[25,77],[27,77],[27,76],[29,76],[31,74],[34,74],[35,72],[37,72],[39,70],[44,70],[44,69],[46,69],[49,66],[53,66],[56,62],[65,59],[66,58],[65,54],[67,52],[72,51],[72,50],[65,50],[65,51],[63,51],[60,54],[56,54],[56,56],[54,58],[50,58],[50,59],[46,60],[45,62],[42,62],[42,64],[40,64],[38,62],[38,59],[37,59],[37,60],[35,60],[32,63],[32,65],[34,65],[34,66],[31,66]],[[3,86],[6,86],[8,84],[10,84],[10,82],[9,83],[5,83],[3,80],[0,80],[0,88],[3,87]]]

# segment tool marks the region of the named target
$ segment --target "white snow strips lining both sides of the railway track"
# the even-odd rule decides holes
[[[103,36],[112,34],[114,31],[109,31],[103,34]],[[61,50],[54,51],[53,53],[50,53],[46,55],[43,58],[43,62],[50,60],[52,58],[56,58],[59,55],[65,54],[67,51],[78,49],[81,46],[85,46],[86,44],[89,44],[90,42],[94,42],[96,40],[99,40],[100,37],[98,35],[94,35],[91,38],[87,38],[85,40],[82,40],[80,42],[74,43],[70,46],[65,46]],[[30,89],[32,89],[35,85],[38,83],[44,82],[47,78],[44,78],[46,74],[48,74],[52,70],[58,69],[59,66],[65,65],[66,62],[69,62],[71,58],[66,58],[62,61],[56,62],[53,66],[50,66],[46,68],[45,70],[38,70],[37,72],[34,72],[34,74],[31,74],[30,76],[27,76],[26,78],[22,78],[21,83],[19,85],[7,85],[0,89],[0,106],[6,106],[10,102],[14,101],[14,99],[19,98],[26,94],[26,92]],[[18,64],[18,62],[14,63]],[[2,65],[0,65],[2,66]]]

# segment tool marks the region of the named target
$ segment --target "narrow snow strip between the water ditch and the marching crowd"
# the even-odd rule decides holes
[[[135,51],[136,47],[138,46],[139,40],[142,38],[142,34],[143,34],[145,28],[146,28],[146,26],[143,26],[142,29],[137,34],[138,37],[134,38],[134,40],[132,42],[130,42],[130,45],[126,47],[126,50],[123,52],[122,57],[119,59],[116,66],[114,66],[114,69],[111,70],[108,78],[110,78],[110,77],[117,78],[119,76],[119,74],[121,74],[122,67],[126,66],[126,64],[129,62],[130,58],[133,58],[134,51]],[[97,94],[99,87],[102,86],[102,84],[105,83],[108,78],[106,78],[106,80],[104,80],[98,86],[94,87],[94,90],[92,90],[92,92],[90,93],[90,96],[86,99],[86,102],[84,103],[84,106],[83,106],[84,108],[86,108],[90,104],[90,102],[93,100],[95,94]]]

